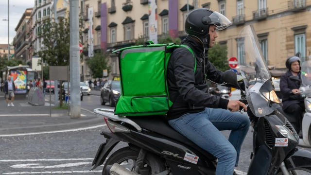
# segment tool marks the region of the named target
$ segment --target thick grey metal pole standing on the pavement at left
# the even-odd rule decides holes
[[[70,0],[70,118],[81,117],[79,0]]]

